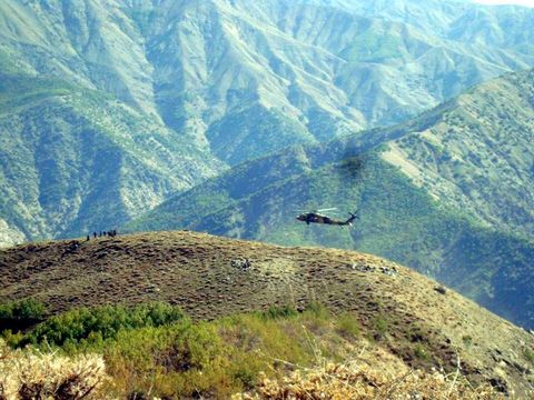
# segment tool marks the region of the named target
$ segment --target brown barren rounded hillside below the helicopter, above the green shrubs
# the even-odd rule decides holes
[[[0,302],[34,297],[51,313],[166,301],[195,319],[319,302],[409,367],[458,369],[520,398],[534,387],[534,336],[384,259],[204,233],[152,232],[0,251]]]

